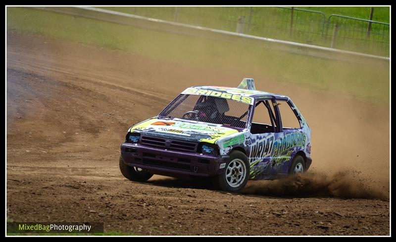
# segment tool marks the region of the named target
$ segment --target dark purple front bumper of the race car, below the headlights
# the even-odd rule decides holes
[[[196,152],[176,151],[130,143],[121,144],[125,164],[149,170],[153,174],[214,176],[225,168],[228,155],[210,156]]]

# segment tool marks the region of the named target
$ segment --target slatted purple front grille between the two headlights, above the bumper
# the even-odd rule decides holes
[[[153,146],[153,147],[160,147],[164,149],[174,149],[174,150],[182,150],[189,152],[196,152],[198,146],[198,143],[195,142],[164,139],[164,138],[158,138],[152,136],[142,136],[141,144]]]

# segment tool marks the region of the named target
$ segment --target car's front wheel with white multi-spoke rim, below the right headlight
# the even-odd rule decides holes
[[[250,166],[247,156],[238,150],[230,154],[223,174],[212,177],[213,186],[221,191],[240,192],[249,180]]]

